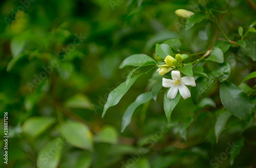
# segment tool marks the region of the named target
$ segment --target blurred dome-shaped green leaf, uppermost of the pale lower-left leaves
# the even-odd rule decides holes
[[[76,94],[69,98],[65,102],[65,107],[67,108],[84,108],[84,109],[94,109],[94,106],[92,105],[92,102],[90,99],[83,94]]]

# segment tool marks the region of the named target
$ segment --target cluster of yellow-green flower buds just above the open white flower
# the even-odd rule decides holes
[[[182,63],[182,57],[181,54],[176,54],[175,58],[173,58],[170,55],[167,55],[164,59],[165,64],[159,65],[160,68],[158,68],[157,72],[160,76],[163,76],[164,74],[172,71],[174,68],[179,67],[179,64]]]

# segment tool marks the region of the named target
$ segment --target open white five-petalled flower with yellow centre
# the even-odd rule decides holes
[[[180,77],[180,71],[172,71],[172,78],[173,79],[163,78],[163,87],[170,88],[167,93],[167,98],[174,99],[178,90],[184,99],[191,97],[190,91],[185,85],[195,87],[195,78],[189,76]]]

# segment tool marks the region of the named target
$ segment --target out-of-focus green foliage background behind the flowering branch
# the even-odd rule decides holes
[[[255,21],[251,2],[214,1],[217,10],[228,8],[222,26],[231,39],[237,38],[239,26]],[[237,156],[233,167],[255,167],[255,127],[244,131],[247,123],[238,123],[232,116],[216,143],[218,111],[207,107],[195,118],[198,106],[188,99],[179,102],[172,128],[165,130],[164,92],[157,102],[140,106],[121,133],[125,109],[150,90],[153,83],[147,80],[153,72],[140,77],[101,118],[108,94],[132,70],[118,68],[129,55],[145,53],[154,58],[156,43],[176,38],[181,51],[188,54],[207,49],[211,25],[203,21],[185,31],[186,20],[174,13],[177,9],[197,11],[198,5],[196,0],[1,1],[0,111],[1,119],[8,111],[9,147],[8,165],[2,159],[0,166],[158,168],[218,163],[228,167]],[[227,58],[232,52],[225,54]],[[241,80],[248,71],[236,64],[241,60],[231,61],[231,68],[240,72],[230,79],[236,83],[233,78]],[[207,95],[215,95],[216,88],[213,85]],[[4,128],[3,120],[0,127]],[[241,144],[242,136],[240,154],[224,157],[228,143]],[[57,142],[63,142],[60,148]],[[0,145],[3,156],[4,142]]]

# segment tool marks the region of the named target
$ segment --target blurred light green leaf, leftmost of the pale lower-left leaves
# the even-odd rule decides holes
[[[31,117],[25,121],[22,130],[25,134],[35,138],[47,130],[54,122],[55,120],[50,117]]]

